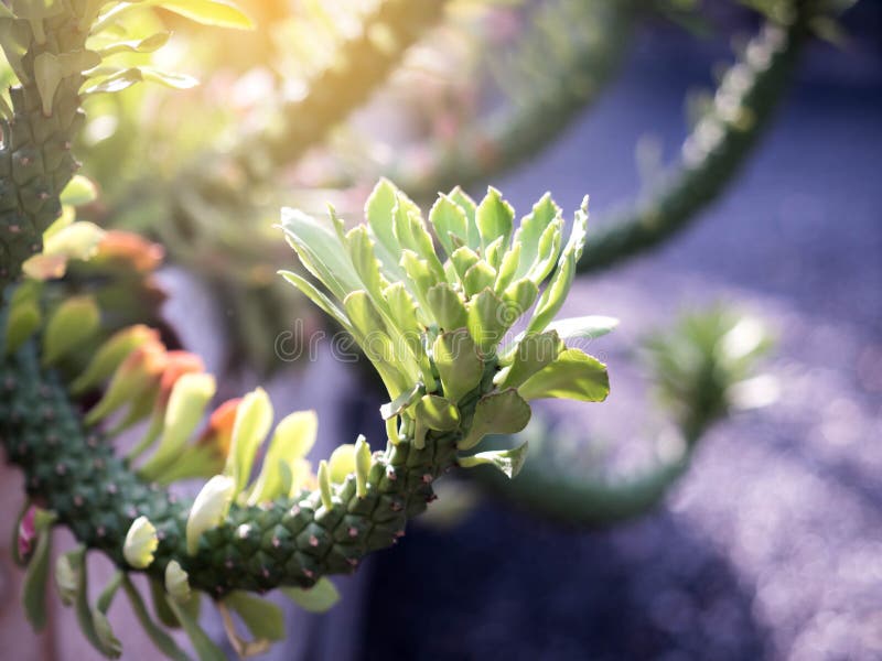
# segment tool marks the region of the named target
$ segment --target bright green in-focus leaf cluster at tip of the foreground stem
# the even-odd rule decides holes
[[[282,275],[348,332],[379,372],[394,443],[412,436],[420,448],[431,431],[463,430],[460,448],[469,449],[486,434],[523,430],[529,400],[606,397],[605,366],[564,339],[598,337],[615,321],[553,322],[582,253],[588,199],[564,236],[550,195],[516,229],[514,208],[495,188],[480,202],[454,188],[438,197],[427,221],[380,180],[365,217],[347,228],[333,208],[326,221],[283,209],[281,228],[314,280]],[[517,324],[525,329],[512,338]],[[465,403],[473,404],[467,420]]]

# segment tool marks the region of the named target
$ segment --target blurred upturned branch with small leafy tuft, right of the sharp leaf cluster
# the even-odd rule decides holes
[[[770,345],[762,324],[721,307],[685,315],[675,328],[652,337],[645,359],[677,425],[674,435],[660,440],[665,451],[654,465],[633,475],[568,470],[548,452],[551,433],[537,421],[538,429],[525,432],[530,453],[515,479],[503,481],[491,472],[474,476],[506,501],[567,525],[606,525],[643,516],[660,505],[688,470],[704,434],[738,404],[734,393],[744,383],[750,387],[756,360]]]

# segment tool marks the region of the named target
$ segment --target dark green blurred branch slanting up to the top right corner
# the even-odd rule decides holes
[[[685,230],[734,180],[785,96],[809,36],[815,15],[809,4],[797,3],[786,25],[766,22],[684,143],[682,163],[595,231],[579,262],[580,273],[609,268]]]

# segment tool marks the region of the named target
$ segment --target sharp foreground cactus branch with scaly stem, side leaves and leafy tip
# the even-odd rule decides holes
[[[381,410],[385,451],[372,453],[361,437],[313,475],[301,469],[300,458],[315,425],[302,415],[288,418],[277,426],[251,481],[255,455],[273,419],[268,397],[258,389],[236,407],[223,469],[194,501],[176,499],[155,480],[168,481],[170,472],[181,476],[182,464],[192,464],[196,475],[215,467],[191,442],[215,392],[214,379],[201,366],[182,371],[180,359],[155,337],[131,329],[107,338],[79,377],[53,367],[84,342],[71,335],[82,313],[68,312],[69,300],[51,313],[44,328],[31,326],[30,337],[7,350],[0,436],[25,473],[30,498],[123,574],[147,572],[163,585],[185,627],[182,604],[195,598],[191,590],[236,608],[245,599],[241,592],[312,588],[329,574],[354,571],[365,553],[404,534],[408,518],[432,500],[434,479],[458,464],[488,464],[512,476],[523,464],[524,446],[461,453],[488,433],[524,429],[529,400],[606,397],[605,367],[567,348],[563,339],[607,326],[592,317],[553,322],[582,250],[585,207],[577,212],[564,243],[560,209],[548,197],[515,232],[514,209],[496,191],[478,205],[454,191],[430,215],[434,231],[447,236],[441,253],[413,203],[389,182],[377,185],[366,215],[366,225],[344,232],[333,212],[321,223],[286,210],[281,227],[289,242],[327,293],[295,273],[284,277],[346,327],[379,371],[390,398]],[[9,319],[33,304],[10,302],[8,335],[17,329]],[[36,305],[43,302],[37,299]],[[525,314],[526,332],[504,344]],[[53,327],[68,329],[54,349]],[[96,387],[104,394],[84,414],[84,400],[73,390]],[[161,419],[153,440],[158,447],[135,468],[130,459],[115,456],[106,423],[117,412],[135,422],[154,411]],[[45,573],[45,546],[37,551],[32,571]],[[67,574],[82,575],[85,561],[82,552],[66,557],[73,568],[65,565],[60,581],[69,583]],[[114,589],[123,581],[120,575]],[[86,599],[80,624],[87,637],[103,653],[116,655],[119,643],[104,617],[107,605],[99,600],[89,610],[83,579],[74,584],[74,602]],[[208,646],[194,636],[197,648]]]

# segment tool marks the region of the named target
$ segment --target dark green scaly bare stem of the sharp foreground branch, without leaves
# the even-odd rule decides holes
[[[463,413],[476,401],[463,402]],[[146,516],[159,534],[147,572],[163,582],[176,560],[194,588],[220,597],[234,589],[308,587],[325,574],[355,571],[362,556],[392,544],[407,519],[426,509],[431,481],[455,463],[462,433],[430,432],[421,449],[406,440],[375,453],[363,498],[349,476],[331,508],[319,490],[260,507],[234,505],[195,555],[186,551],[185,534],[192,502],[146,483],[114,456],[101,434],[84,425],[58,375],[40,368],[33,347],[0,365],[0,438],[24,470],[29,496],[57,512],[57,522],[80,542],[131,570],[123,540]]]

